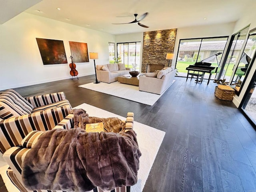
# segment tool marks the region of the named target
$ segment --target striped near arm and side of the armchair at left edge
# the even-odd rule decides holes
[[[33,130],[51,130],[71,113],[71,106],[35,112],[29,115],[9,118],[0,122],[0,151],[3,153],[8,148],[19,146],[22,139]]]

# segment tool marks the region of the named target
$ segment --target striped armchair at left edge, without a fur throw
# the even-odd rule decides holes
[[[19,146],[32,130],[51,130],[71,113],[64,92],[22,98],[10,89],[0,94],[0,152]]]

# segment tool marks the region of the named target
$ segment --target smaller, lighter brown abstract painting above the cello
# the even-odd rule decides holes
[[[69,46],[70,46],[71,55],[73,57],[73,62],[75,63],[89,62],[87,43],[70,41]]]

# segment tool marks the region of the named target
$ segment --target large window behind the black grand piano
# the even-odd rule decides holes
[[[212,63],[211,66],[218,67],[222,54],[217,57],[214,55],[219,52],[223,53],[227,40],[228,36],[180,40],[176,61],[178,76],[187,76],[186,68],[202,60]],[[210,56],[213,57],[209,58]],[[206,58],[209,59],[206,61]],[[204,78],[208,78],[208,75],[205,74]],[[214,79],[215,76],[212,76],[212,78]]]

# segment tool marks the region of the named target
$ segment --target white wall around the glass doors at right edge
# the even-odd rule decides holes
[[[238,32],[239,30],[241,30],[242,28],[244,28],[248,24],[250,24],[250,30],[256,28],[255,18],[256,18],[255,8],[252,7],[251,11],[247,10],[244,13],[244,16],[236,22],[236,26],[234,27],[233,33]],[[233,98],[233,103],[237,107],[240,105],[240,103],[242,101],[242,98],[244,97],[244,94],[246,92],[246,88],[248,87],[248,85],[250,83],[250,80],[252,79],[252,76],[253,76],[255,70],[256,70],[256,61],[254,61],[254,63],[252,64],[252,68],[251,68],[250,72],[248,73],[248,76],[246,78],[246,81],[244,82],[244,86],[243,86],[243,88],[240,92],[240,95],[239,96],[235,95],[234,98]]]

